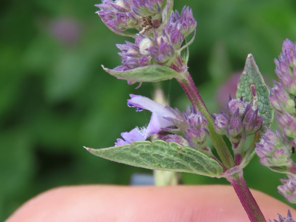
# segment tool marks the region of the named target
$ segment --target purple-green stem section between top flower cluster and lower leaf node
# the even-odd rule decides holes
[[[214,130],[214,123],[210,116],[209,111],[207,110],[207,107],[205,106],[205,103],[202,100],[202,97],[200,96],[200,93],[198,92],[193,79],[191,75],[186,70],[184,72],[184,75],[181,76],[179,79],[177,79],[180,85],[183,87],[184,91],[186,92],[188,98],[190,99],[192,105],[202,112],[202,114],[207,118],[208,120],[208,128],[210,133],[210,138],[214,144],[215,149],[217,150],[217,153],[223,163],[223,165],[230,169],[234,167],[234,160],[231,156],[231,153],[229,152],[229,149],[227,148],[225,141],[222,139],[221,135],[217,134]]]

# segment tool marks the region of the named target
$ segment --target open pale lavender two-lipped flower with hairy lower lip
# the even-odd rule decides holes
[[[149,110],[152,112],[150,122],[147,127],[139,129],[138,127],[134,128],[130,132],[121,133],[120,135],[124,139],[117,139],[115,143],[118,145],[131,144],[135,141],[144,141],[149,136],[152,136],[155,133],[159,133],[162,128],[167,128],[173,123],[166,118],[176,118],[176,114],[170,110],[168,107],[164,107],[151,99],[130,94],[131,99],[128,99],[129,107],[136,107],[136,111]]]

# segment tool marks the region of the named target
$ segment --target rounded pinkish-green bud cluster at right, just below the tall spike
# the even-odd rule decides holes
[[[293,146],[294,140],[289,141],[278,129],[274,133],[267,128],[261,136],[260,143],[256,143],[255,151],[260,157],[260,162],[267,167],[291,167]]]

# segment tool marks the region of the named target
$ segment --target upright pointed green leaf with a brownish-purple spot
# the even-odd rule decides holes
[[[269,101],[269,89],[252,54],[248,55],[244,71],[237,84],[237,98],[241,96],[247,99],[247,102],[252,101],[253,107],[259,106],[258,115],[263,116],[262,130],[265,130],[265,126],[270,127],[274,111]]]

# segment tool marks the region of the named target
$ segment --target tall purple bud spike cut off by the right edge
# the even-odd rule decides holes
[[[270,89],[270,101],[276,110],[276,120],[283,132],[296,137],[296,43],[286,39],[279,60],[274,60],[279,81]]]

